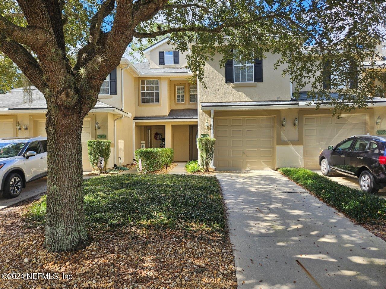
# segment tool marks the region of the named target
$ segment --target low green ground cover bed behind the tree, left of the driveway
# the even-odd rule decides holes
[[[122,174],[83,181],[88,227],[134,225],[225,232],[220,184],[215,177]],[[46,196],[32,203],[24,218],[44,223]]]

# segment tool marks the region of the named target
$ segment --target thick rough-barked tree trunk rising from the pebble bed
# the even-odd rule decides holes
[[[45,247],[53,252],[85,247],[80,108],[49,108]]]

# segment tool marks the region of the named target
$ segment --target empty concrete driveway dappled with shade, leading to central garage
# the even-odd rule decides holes
[[[277,171],[216,173],[239,288],[386,288],[386,242]]]

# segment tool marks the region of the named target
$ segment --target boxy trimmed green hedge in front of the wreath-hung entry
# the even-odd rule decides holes
[[[137,170],[139,163],[142,163],[142,172],[160,170],[163,166],[170,166],[174,159],[172,148],[140,148],[135,151],[135,160],[137,161]]]

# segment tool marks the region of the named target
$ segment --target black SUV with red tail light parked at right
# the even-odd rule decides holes
[[[386,186],[385,143],[379,136],[351,136],[320,152],[320,170],[325,176],[336,171],[358,178],[362,191],[377,193]]]

